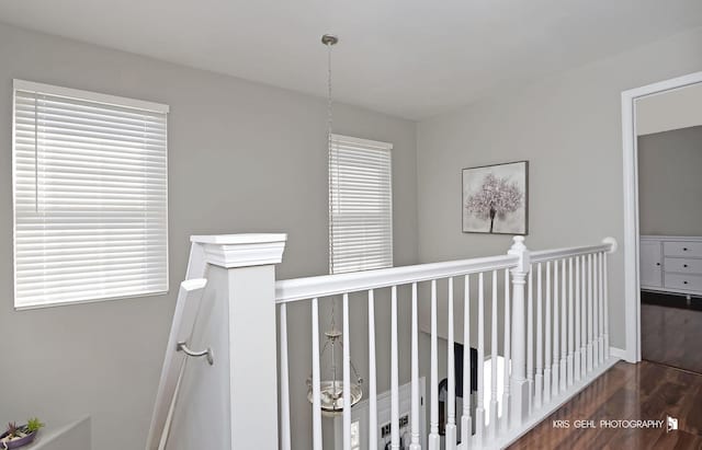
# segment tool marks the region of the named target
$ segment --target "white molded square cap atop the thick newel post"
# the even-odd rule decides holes
[[[241,233],[193,235],[203,246],[205,261],[224,268],[264,266],[283,261],[285,233]]]

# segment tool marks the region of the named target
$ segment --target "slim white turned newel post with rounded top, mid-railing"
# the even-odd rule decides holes
[[[530,253],[524,245],[524,236],[514,236],[512,247],[507,252],[519,256],[512,269],[512,372],[511,392],[512,426],[521,424],[529,412],[529,384],[526,382],[526,314],[524,285],[530,268]]]

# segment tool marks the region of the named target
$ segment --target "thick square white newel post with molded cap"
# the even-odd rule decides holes
[[[278,449],[275,264],[286,234],[192,236],[208,265],[213,295],[226,301],[223,342],[213,369],[228,378],[231,449]],[[227,393],[223,392],[223,395]]]

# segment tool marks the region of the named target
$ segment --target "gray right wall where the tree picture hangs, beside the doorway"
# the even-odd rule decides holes
[[[702,28],[418,125],[421,262],[503,253],[505,235],[461,232],[461,170],[529,160],[531,249],[623,244],[621,92],[702,70]],[[469,82],[467,80],[466,82]],[[611,343],[624,346],[624,263],[611,258]]]

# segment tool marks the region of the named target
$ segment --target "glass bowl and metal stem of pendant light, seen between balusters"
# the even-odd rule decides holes
[[[320,405],[321,414],[327,417],[333,417],[343,412],[343,381],[339,379],[339,377],[343,378],[343,374],[340,372],[342,365],[337,364],[338,356],[343,355],[343,341],[341,341],[342,333],[337,330],[335,322],[336,301],[332,301],[331,330],[325,332],[327,341],[319,355],[319,360],[322,365],[320,372],[322,377],[325,377],[319,382]],[[361,390],[363,379],[359,377],[359,372],[355,370],[353,362],[351,362],[350,366],[353,371],[353,378],[355,379],[355,382],[352,381],[349,383],[351,406],[353,406],[359,403],[363,396],[363,391]],[[312,376],[307,379],[307,400],[314,404]]]

